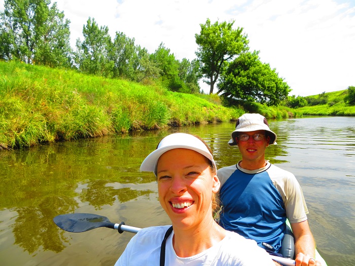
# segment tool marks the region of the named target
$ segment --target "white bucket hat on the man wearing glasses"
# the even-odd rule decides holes
[[[228,144],[231,146],[237,144],[235,139],[238,132],[250,132],[257,130],[265,130],[269,132],[269,134],[267,134],[270,137],[269,144],[277,144],[276,134],[270,130],[266,118],[259,115],[259,113],[244,113],[244,115],[238,118],[237,123],[235,124],[235,130],[231,133],[232,138],[228,141]]]

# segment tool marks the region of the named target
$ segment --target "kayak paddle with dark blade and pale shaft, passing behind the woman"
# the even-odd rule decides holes
[[[120,234],[130,232],[136,234],[141,228],[125,225],[124,222],[113,223],[108,217],[91,213],[61,214],[53,218],[54,223],[62,230],[72,233],[82,233],[98,227],[117,229]],[[270,255],[273,260],[285,266],[295,266],[293,259]]]

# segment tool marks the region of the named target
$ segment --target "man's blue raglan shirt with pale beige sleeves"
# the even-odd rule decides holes
[[[223,209],[220,225],[254,239],[260,247],[278,252],[290,223],[307,220],[308,209],[296,177],[267,161],[265,167],[246,170],[236,165],[217,173]]]

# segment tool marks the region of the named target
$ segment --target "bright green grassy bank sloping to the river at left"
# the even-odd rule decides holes
[[[157,85],[0,62],[0,149],[230,121],[243,112]]]

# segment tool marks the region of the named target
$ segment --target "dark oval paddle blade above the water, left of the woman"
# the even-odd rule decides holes
[[[91,213],[61,214],[53,218],[54,223],[62,230],[82,233],[98,227],[114,228],[115,223],[108,217]]]

